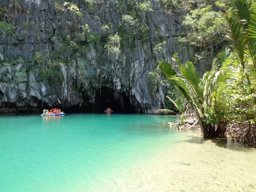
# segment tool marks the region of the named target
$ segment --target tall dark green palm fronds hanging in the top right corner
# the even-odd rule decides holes
[[[234,7],[227,11],[226,18],[230,30],[226,37],[233,43],[243,67],[247,84],[251,85],[246,55],[250,55],[256,69],[256,9],[251,0],[236,0]]]

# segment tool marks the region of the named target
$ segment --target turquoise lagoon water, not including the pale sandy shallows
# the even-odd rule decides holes
[[[174,138],[151,115],[0,117],[0,191],[93,189]]]

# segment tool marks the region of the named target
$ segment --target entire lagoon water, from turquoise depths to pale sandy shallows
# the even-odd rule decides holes
[[[256,191],[256,150],[170,116],[0,116],[0,191]]]

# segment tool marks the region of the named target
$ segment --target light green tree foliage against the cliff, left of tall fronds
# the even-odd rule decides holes
[[[228,4],[223,7],[223,2],[226,0],[193,2],[189,1],[187,4],[183,2],[179,5],[189,11],[182,22],[187,28],[187,35],[181,37],[179,41],[193,47],[194,61],[209,66],[222,47],[227,44],[223,39],[227,28],[223,12]]]

